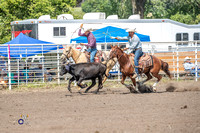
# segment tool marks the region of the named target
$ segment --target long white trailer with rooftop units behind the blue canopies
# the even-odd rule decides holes
[[[170,19],[139,19],[138,17],[135,19],[133,16],[129,19],[108,16],[105,19],[105,13],[87,13],[83,18],[73,19],[69,14],[62,14],[57,19],[50,19],[49,15],[45,15],[39,19],[13,21],[11,22],[12,38],[19,32],[23,32],[39,40],[69,44],[72,38],[78,37],[79,26],[83,23],[84,27],[94,30],[106,26],[136,28],[138,33],[149,35],[151,42],[155,42],[153,45],[151,43],[151,46],[144,43],[144,49],[154,47],[161,51],[169,51],[171,47],[177,45],[176,41],[200,40],[200,24],[187,25]],[[194,44],[181,42],[178,45],[193,46]]]

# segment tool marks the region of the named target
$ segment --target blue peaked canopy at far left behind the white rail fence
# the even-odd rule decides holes
[[[23,46],[9,46],[9,44],[41,44],[41,45],[23,45]],[[53,44],[51,42],[40,41],[20,33],[13,40],[0,45],[0,55],[8,57],[8,50],[10,47],[10,57],[19,59],[23,57],[33,56],[41,53],[47,53],[51,50],[56,50],[57,45],[45,45]],[[59,48],[62,48],[60,45]]]

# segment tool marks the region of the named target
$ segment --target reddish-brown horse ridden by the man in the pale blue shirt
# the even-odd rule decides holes
[[[131,78],[133,85],[136,87],[136,81],[135,81],[135,79],[132,78],[132,76],[134,74],[134,67],[132,66],[129,56],[126,53],[124,53],[124,51],[120,47],[111,46],[110,58],[117,58],[117,60],[120,64],[120,69],[122,72],[121,83],[127,87],[127,85],[124,84],[124,80],[128,76]],[[154,83],[154,85],[153,85],[153,91],[156,91],[155,86],[162,78],[162,76],[159,74],[160,69],[163,70],[170,79],[171,79],[171,75],[170,75],[170,71],[168,69],[169,66],[168,66],[167,62],[164,62],[155,56],[152,56],[152,59],[153,59],[153,66],[145,67],[143,69],[139,68],[139,73],[140,74],[144,73],[147,76],[147,79],[141,82],[142,84],[144,82],[147,82],[148,80],[152,79],[152,76],[157,78],[156,83]],[[133,88],[131,88],[130,86],[127,88],[129,88],[131,92],[136,91]]]

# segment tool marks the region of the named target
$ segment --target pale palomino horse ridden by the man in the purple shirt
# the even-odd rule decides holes
[[[105,51],[105,55],[108,57],[109,56],[108,51]],[[62,61],[65,61],[66,59],[69,59],[72,57],[75,63],[84,63],[87,62],[87,57],[85,53],[73,48],[72,46],[66,46],[65,49],[63,50],[63,54],[60,57]],[[103,61],[103,64],[106,64],[107,69],[106,69],[106,75],[109,75],[109,71],[113,68],[113,66],[116,64],[117,58],[112,58],[107,61]],[[107,77],[104,77],[104,80],[102,83],[106,81]]]

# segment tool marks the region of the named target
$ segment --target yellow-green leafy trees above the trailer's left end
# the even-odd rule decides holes
[[[71,13],[76,0],[0,0],[0,44],[11,39],[10,22],[24,19],[38,19],[50,14],[53,18]]]

